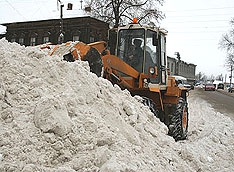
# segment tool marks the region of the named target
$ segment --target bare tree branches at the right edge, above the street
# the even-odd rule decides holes
[[[226,65],[228,68],[234,66],[234,18],[231,20],[231,30],[228,33],[225,33],[220,42],[220,48],[226,50]]]

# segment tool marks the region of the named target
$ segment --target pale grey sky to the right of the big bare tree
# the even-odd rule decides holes
[[[161,27],[168,30],[167,55],[197,65],[196,73],[220,75],[230,72],[224,67],[226,52],[219,49],[222,35],[231,29],[233,0],[166,0],[162,10],[166,19]]]

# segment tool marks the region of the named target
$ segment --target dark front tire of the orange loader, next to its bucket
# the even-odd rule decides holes
[[[90,47],[90,50],[84,56],[84,61],[89,62],[90,71],[95,73],[98,77],[102,73],[102,57],[100,53],[93,47]]]

